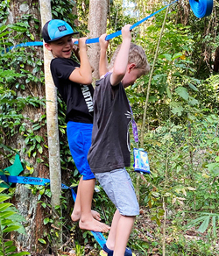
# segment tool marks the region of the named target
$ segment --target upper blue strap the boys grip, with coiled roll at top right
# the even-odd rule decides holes
[[[172,4],[175,4],[176,2],[178,2],[178,0],[173,1],[171,4],[167,4],[165,7],[161,8],[159,11],[155,11],[151,15],[139,20],[134,25],[131,25],[130,29],[132,30],[136,26],[142,24],[147,19],[152,18],[154,15],[158,14],[160,11],[163,11],[168,6],[170,6]],[[197,18],[207,17],[211,14],[211,12],[213,10],[213,0],[189,0],[189,4],[192,8],[192,11],[194,12],[194,15]],[[117,32],[111,33],[111,34],[106,36],[105,40],[108,41],[110,39],[114,39],[114,38],[120,36],[121,34],[122,34],[122,31],[117,31]],[[94,43],[99,43],[99,38],[87,39],[86,40],[86,44],[94,44]],[[77,45],[78,41],[74,42],[74,44]],[[6,49],[6,53],[9,52],[9,50],[11,50],[13,48],[25,47],[25,46],[43,46],[43,42],[37,42],[37,41],[36,42],[27,42],[27,43],[19,44],[17,46],[11,46],[11,47]],[[4,53],[4,51],[2,53]]]

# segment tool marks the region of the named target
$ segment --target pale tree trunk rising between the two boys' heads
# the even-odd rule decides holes
[[[99,38],[106,32],[107,27],[108,0],[90,0],[88,16],[88,37]],[[99,78],[99,44],[90,44],[88,47],[88,57],[90,65],[94,68],[93,78]]]

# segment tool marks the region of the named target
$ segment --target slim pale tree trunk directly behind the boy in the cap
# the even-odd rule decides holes
[[[47,21],[52,19],[51,4],[47,0],[39,0],[41,26],[43,27]],[[59,125],[58,125],[58,105],[57,105],[57,89],[53,83],[53,77],[50,72],[50,62],[53,55],[44,46],[44,71],[46,83],[46,124],[49,146],[49,173],[50,173],[50,189],[52,193],[51,204],[53,213],[55,206],[60,205],[61,196],[61,174],[60,174],[60,140],[59,140]],[[61,207],[60,207],[61,210]],[[61,217],[61,212],[60,212]],[[54,219],[54,225],[59,228],[53,243],[53,250],[57,250],[62,245],[62,232],[60,218]]]

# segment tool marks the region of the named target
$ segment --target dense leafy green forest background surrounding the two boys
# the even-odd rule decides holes
[[[53,18],[66,20],[80,36],[93,35],[91,30],[100,36],[97,3],[105,13],[107,33],[167,4],[52,0]],[[96,25],[89,28],[91,12]],[[164,18],[162,11],[132,32],[133,42],[143,46],[151,65]],[[133,160],[128,169],[141,209],[129,242],[137,255],[219,255],[217,18],[218,1],[212,14],[201,19],[194,16],[188,1],[173,4],[150,88],[145,75],[126,90],[152,172],[135,173]],[[40,31],[38,0],[0,3],[0,168],[4,172],[18,153],[24,167],[20,175],[49,178],[43,48],[6,51],[19,43],[42,40]],[[110,41],[109,59],[119,43],[121,37]],[[92,54],[98,57],[95,47],[88,48],[91,59]],[[59,97],[58,103],[62,182],[76,185],[79,175],[67,146],[65,105]],[[136,146],[131,138],[132,149]],[[95,210],[110,224],[115,209],[97,188]],[[80,231],[70,220],[74,202],[69,191],[63,191],[56,213],[49,187],[17,184],[0,188],[0,193],[0,255],[98,255],[100,246],[91,233]]]

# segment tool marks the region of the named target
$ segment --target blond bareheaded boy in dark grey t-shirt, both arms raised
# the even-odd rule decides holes
[[[101,256],[133,256],[127,248],[135,217],[139,214],[138,200],[131,177],[125,170],[130,167],[131,108],[124,88],[132,85],[150,66],[141,46],[131,43],[131,25],[122,29],[123,43],[117,47],[107,68],[106,51],[109,41],[103,34],[99,75],[94,93],[94,127],[88,163],[117,210]],[[108,72],[109,71],[109,72]]]

